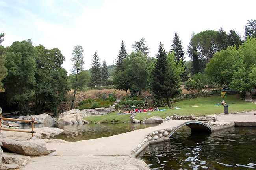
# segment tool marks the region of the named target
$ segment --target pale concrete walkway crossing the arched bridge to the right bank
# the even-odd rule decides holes
[[[234,126],[237,121],[256,122],[256,115],[254,113],[256,112],[219,115],[217,116],[217,122],[208,123],[208,125],[213,131],[216,131]],[[143,161],[132,157],[134,153],[132,151],[135,150],[136,153],[141,152],[150,143],[150,141],[145,139],[150,139],[157,135],[157,133],[155,135],[152,132],[159,132],[160,129],[164,129],[162,131],[171,129],[168,133],[171,135],[172,131],[176,130],[176,127],[180,127],[189,121],[198,122],[196,120],[170,120],[155,127],[139,129],[110,137],[64,144],[49,143],[46,145],[47,148],[56,150],[57,156],[32,158],[32,162],[25,166],[24,169],[148,169]],[[152,134],[152,137],[149,134]],[[160,137],[160,134],[158,136]],[[169,139],[169,136],[165,139]],[[136,149],[138,144],[142,146]]]

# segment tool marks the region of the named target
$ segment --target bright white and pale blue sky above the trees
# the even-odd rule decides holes
[[[130,53],[144,37],[155,57],[160,42],[171,50],[176,32],[187,51],[192,33],[222,27],[243,37],[255,6],[255,0],[0,0],[0,33],[4,46],[31,39],[34,46],[58,48],[70,74],[76,45],[84,49],[85,69],[95,51],[101,63],[114,64],[122,40]]]

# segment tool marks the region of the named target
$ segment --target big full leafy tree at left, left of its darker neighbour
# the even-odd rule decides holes
[[[28,102],[34,95],[36,55],[35,48],[28,41],[16,41],[6,48],[6,101],[10,105],[17,103],[20,113],[30,113]]]

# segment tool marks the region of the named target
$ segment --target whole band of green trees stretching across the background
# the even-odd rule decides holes
[[[226,33],[222,28],[193,34],[187,47],[191,66],[185,61],[185,50],[177,33],[169,51],[159,44],[156,57],[148,56],[150,49],[144,38],[135,41],[130,54],[122,41],[111,80],[106,61],[101,66],[97,52],[93,54],[90,72],[84,69],[83,48],[79,45],[72,53],[69,76],[61,67],[65,57],[57,48],[33,46],[30,39],[8,47],[0,45],[0,105],[21,113],[31,113],[33,108],[35,114],[47,110],[56,115],[70,89],[74,91],[73,108],[77,91],[112,83],[116,89],[132,94],[149,89],[154,98],[165,99],[167,104],[169,98],[180,93],[180,84],[185,81],[188,88],[206,87],[211,82],[246,91],[255,86],[255,37],[255,20],[247,22],[245,40],[236,31]],[[3,41],[4,33],[0,34],[0,44]]]

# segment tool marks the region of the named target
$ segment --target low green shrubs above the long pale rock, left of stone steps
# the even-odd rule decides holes
[[[99,107],[109,107],[113,105],[115,102],[115,97],[108,97],[108,98],[97,98],[97,99],[87,99],[83,100],[78,104],[78,109],[95,109]]]

